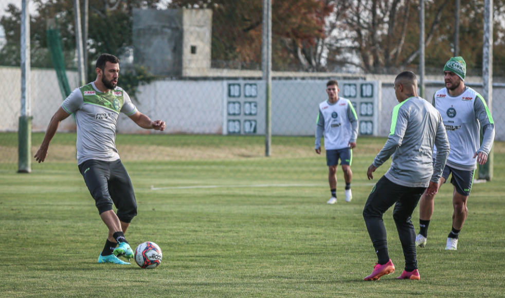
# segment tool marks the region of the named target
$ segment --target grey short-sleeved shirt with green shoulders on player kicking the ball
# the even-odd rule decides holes
[[[61,107],[68,114],[76,115],[77,164],[89,159],[103,161],[119,159],[116,149],[119,112],[128,116],[137,112],[127,92],[116,87],[104,93],[92,82],[76,88],[63,101]]]

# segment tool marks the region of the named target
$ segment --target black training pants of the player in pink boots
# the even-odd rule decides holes
[[[425,190],[426,188],[423,187],[405,187],[393,183],[383,176],[374,185],[363,210],[368,234],[375,251],[378,251],[388,247],[386,227],[384,227],[382,216],[396,203],[393,209],[393,219],[402,243],[405,268],[411,269],[408,271],[417,269],[416,231],[410,218]]]

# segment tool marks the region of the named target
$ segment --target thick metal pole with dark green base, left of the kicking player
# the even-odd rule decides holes
[[[31,173],[30,12],[21,2],[21,117],[18,135],[18,173]]]

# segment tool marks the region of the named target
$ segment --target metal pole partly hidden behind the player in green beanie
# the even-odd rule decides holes
[[[490,113],[493,113],[493,0],[484,1],[484,43],[482,48],[482,96],[488,101]],[[482,139],[482,134],[481,134]],[[488,162],[479,165],[479,179],[493,179],[494,153],[488,156]]]

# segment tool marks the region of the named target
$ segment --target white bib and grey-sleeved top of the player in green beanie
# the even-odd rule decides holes
[[[433,105],[442,115],[449,139],[447,165],[464,171],[477,169],[475,153],[489,155],[495,138],[493,117],[482,96],[470,87],[459,96],[450,96],[447,88],[442,88],[435,93]],[[479,139],[481,125],[484,133],[482,145]]]

